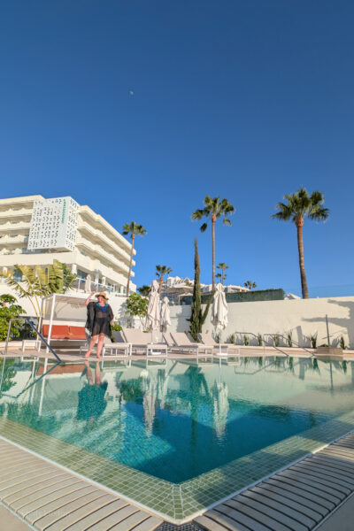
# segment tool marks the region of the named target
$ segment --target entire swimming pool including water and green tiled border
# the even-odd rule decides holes
[[[181,519],[353,429],[353,397],[345,361],[8,359],[0,434]]]

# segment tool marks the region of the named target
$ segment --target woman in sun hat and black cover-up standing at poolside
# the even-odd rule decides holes
[[[104,292],[100,292],[97,295],[96,303],[90,302],[91,296],[94,294],[95,291],[88,296],[85,302],[88,307],[86,328],[89,328],[91,334],[89,350],[85,354],[85,358],[89,358],[97,339],[97,358],[101,358],[101,352],[104,346],[104,336],[107,335],[107,337],[111,338],[112,335],[111,327],[113,326],[113,312],[111,306],[107,304],[108,298]]]

